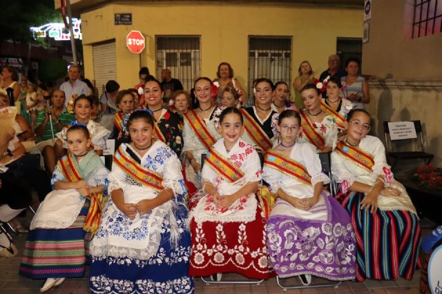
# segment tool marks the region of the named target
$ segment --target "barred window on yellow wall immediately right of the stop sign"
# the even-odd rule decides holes
[[[201,75],[200,37],[156,36],[157,79],[161,80],[164,68],[171,70],[172,77],[179,79],[184,90],[191,90],[193,81]]]

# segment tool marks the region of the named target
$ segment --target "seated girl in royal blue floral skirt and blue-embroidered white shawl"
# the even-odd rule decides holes
[[[134,111],[131,143],[115,153],[111,199],[90,243],[92,293],[193,293],[180,161],[154,128],[149,112]]]

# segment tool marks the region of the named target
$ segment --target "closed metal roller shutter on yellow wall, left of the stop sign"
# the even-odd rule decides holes
[[[108,80],[117,80],[117,62],[115,40],[93,45],[93,63],[95,86],[99,95],[104,92]]]

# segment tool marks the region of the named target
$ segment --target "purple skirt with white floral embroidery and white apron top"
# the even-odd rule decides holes
[[[300,210],[278,199],[267,222],[267,248],[279,277],[309,274],[328,280],[355,277],[355,241],[350,217],[323,193],[318,204]]]

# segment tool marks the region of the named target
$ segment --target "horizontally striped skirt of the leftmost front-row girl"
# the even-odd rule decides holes
[[[68,228],[37,228],[28,233],[19,274],[32,279],[82,277],[86,269],[86,232],[83,230],[90,200]]]

